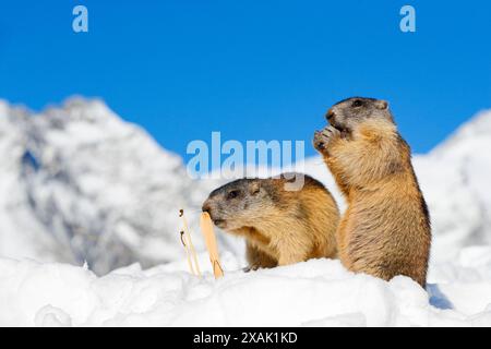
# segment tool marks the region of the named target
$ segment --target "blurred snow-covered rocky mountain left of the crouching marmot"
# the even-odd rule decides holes
[[[106,273],[181,252],[178,210],[200,198],[181,159],[104,103],[0,104],[0,255]]]

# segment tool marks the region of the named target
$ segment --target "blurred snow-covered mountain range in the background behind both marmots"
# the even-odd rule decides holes
[[[433,220],[433,257],[491,243],[489,149],[491,111],[415,156]],[[182,258],[178,210],[197,216],[217,184],[192,181],[178,156],[100,100],[71,98],[38,115],[0,101],[0,256],[86,261],[98,274]],[[304,170],[339,197],[320,158]]]

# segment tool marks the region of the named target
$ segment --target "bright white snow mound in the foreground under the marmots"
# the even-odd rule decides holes
[[[97,277],[3,258],[0,326],[489,326],[490,252],[467,249],[458,264],[434,266],[429,293],[409,278],[386,282],[331,260],[243,273],[224,253],[226,275],[214,280],[209,268],[199,278],[181,263]]]

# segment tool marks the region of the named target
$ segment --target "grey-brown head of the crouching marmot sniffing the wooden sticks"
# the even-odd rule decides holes
[[[214,190],[203,203],[213,222],[226,230],[254,227],[275,204],[272,185],[262,179],[239,179]]]

